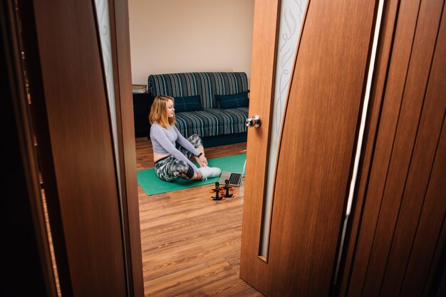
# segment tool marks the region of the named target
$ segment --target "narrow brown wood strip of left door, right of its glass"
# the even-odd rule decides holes
[[[115,108],[118,126],[123,236],[127,258],[130,296],[144,296],[138,184],[136,180],[135,131],[133,126],[132,77],[130,69],[130,29],[127,0],[110,0]]]

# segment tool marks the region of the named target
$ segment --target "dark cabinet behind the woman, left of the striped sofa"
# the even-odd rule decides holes
[[[133,118],[135,124],[135,137],[149,135],[149,112],[153,98],[149,93],[133,93]]]

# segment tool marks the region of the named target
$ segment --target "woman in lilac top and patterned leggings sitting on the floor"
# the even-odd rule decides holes
[[[169,96],[157,96],[150,109],[150,140],[158,177],[172,182],[178,178],[207,180],[219,176],[222,173],[219,168],[207,166],[202,139],[196,134],[185,139],[175,127],[173,100]],[[175,142],[180,149],[175,147]],[[190,161],[192,155],[200,168]]]

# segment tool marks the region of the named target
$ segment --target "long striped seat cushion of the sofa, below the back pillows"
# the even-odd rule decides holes
[[[248,107],[179,112],[175,114],[175,126],[186,138],[193,134],[200,137],[236,134],[247,131],[247,116]]]

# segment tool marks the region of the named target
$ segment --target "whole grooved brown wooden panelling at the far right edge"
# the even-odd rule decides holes
[[[348,296],[432,294],[446,212],[443,7],[400,3]]]

